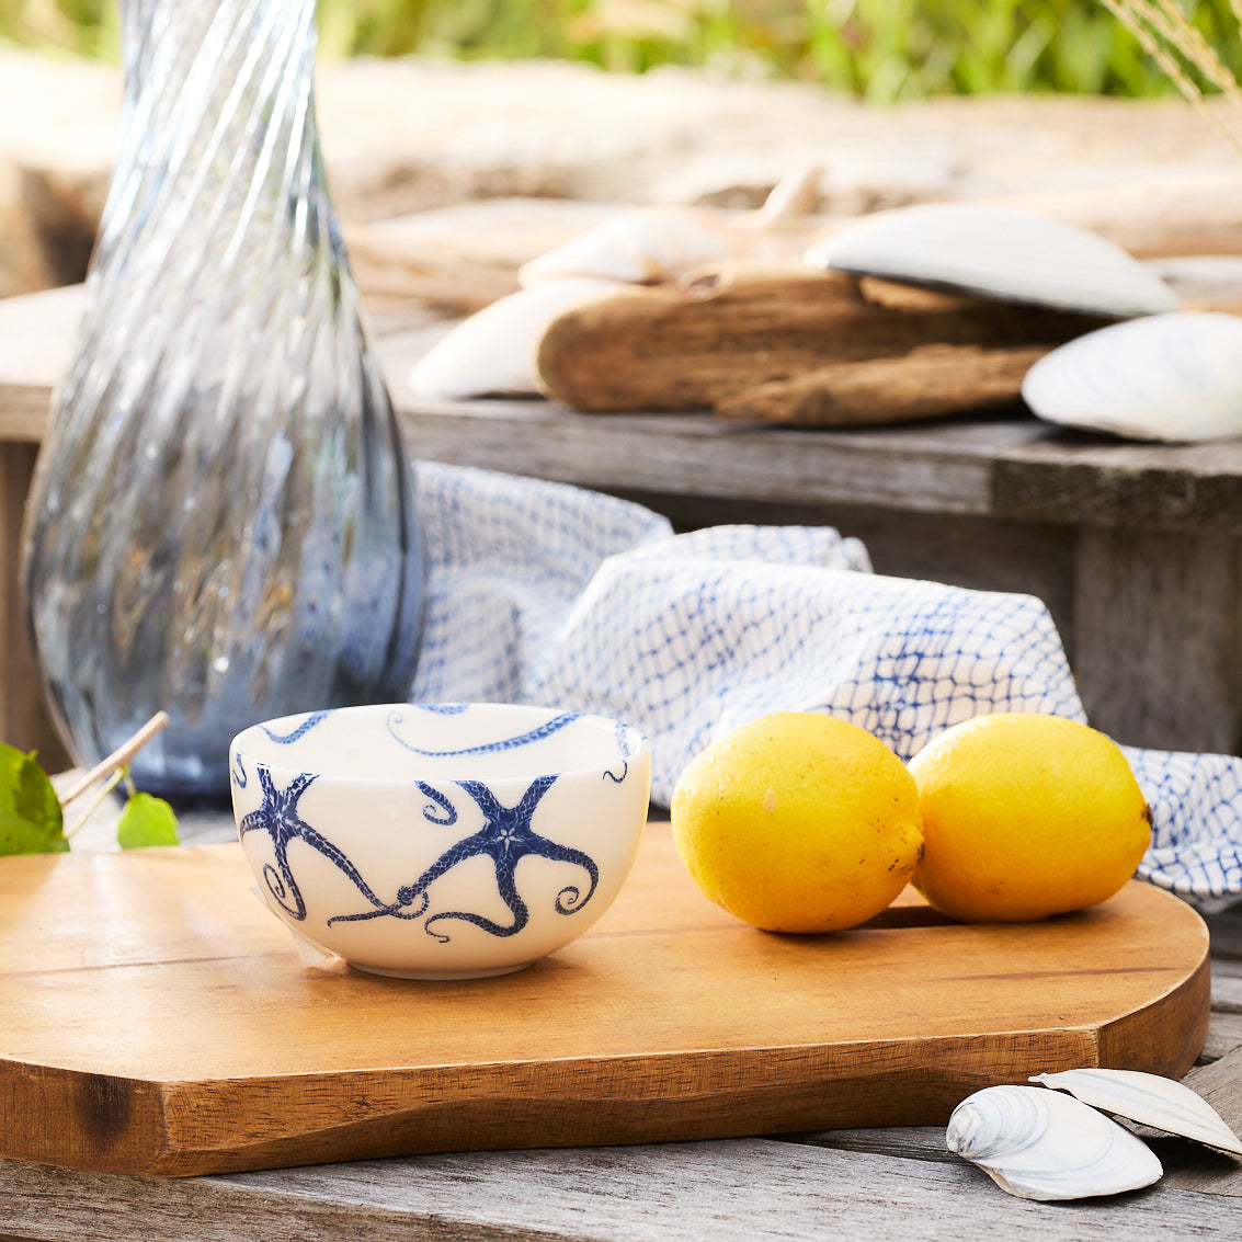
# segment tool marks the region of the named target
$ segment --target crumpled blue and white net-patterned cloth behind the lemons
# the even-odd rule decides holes
[[[674,535],[636,504],[419,465],[430,551],[414,702],[544,703],[641,729],[664,806],[704,746],[771,712],[828,712],[903,759],[987,712],[1086,720],[1028,595],[882,578],[826,527]],[[1123,748],[1151,804],[1139,874],[1242,902],[1242,759]]]

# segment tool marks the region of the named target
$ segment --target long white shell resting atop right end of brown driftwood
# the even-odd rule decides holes
[[[1118,319],[1180,306],[1159,276],[1098,233],[981,202],[876,212],[816,242],[804,261]]]

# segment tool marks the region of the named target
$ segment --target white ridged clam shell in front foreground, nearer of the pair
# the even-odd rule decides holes
[[[1103,1113],[1038,1087],[987,1087],[949,1118],[945,1143],[1018,1199],[1088,1199],[1150,1186],[1155,1153]]]

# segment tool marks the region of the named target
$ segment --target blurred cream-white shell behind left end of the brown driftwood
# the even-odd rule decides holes
[[[594,276],[651,284],[734,257],[739,247],[737,231],[723,216],[699,207],[642,207],[523,263],[518,282],[532,288],[566,276]]]

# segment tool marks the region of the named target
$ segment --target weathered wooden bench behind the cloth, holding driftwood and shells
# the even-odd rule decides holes
[[[0,302],[0,735],[56,744],[25,651],[17,529],[79,291]],[[678,528],[807,522],[859,537],[879,573],[1040,596],[1092,722],[1119,741],[1242,745],[1242,441],[1153,446],[1021,410],[820,431],[712,415],[582,415],[542,400],[417,400],[445,330],[376,319],[412,452],[638,499]]]

